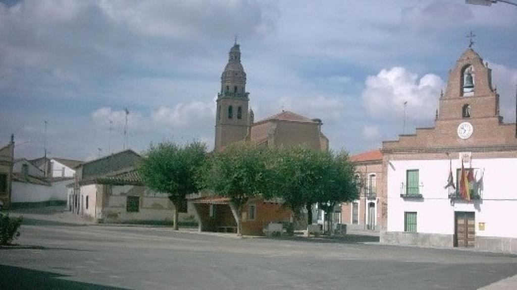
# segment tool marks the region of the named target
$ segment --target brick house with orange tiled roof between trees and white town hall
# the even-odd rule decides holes
[[[381,230],[386,228],[386,196],[382,184],[383,154],[380,149],[350,156],[360,179],[359,198],[341,204],[341,222],[350,230]]]

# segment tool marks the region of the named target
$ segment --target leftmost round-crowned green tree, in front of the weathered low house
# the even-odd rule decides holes
[[[139,167],[143,183],[151,190],[169,194],[174,204],[174,230],[178,230],[178,210],[186,195],[199,191],[195,173],[205,162],[206,146],[191,142],[179,146],[171,141],[151,144]]]

